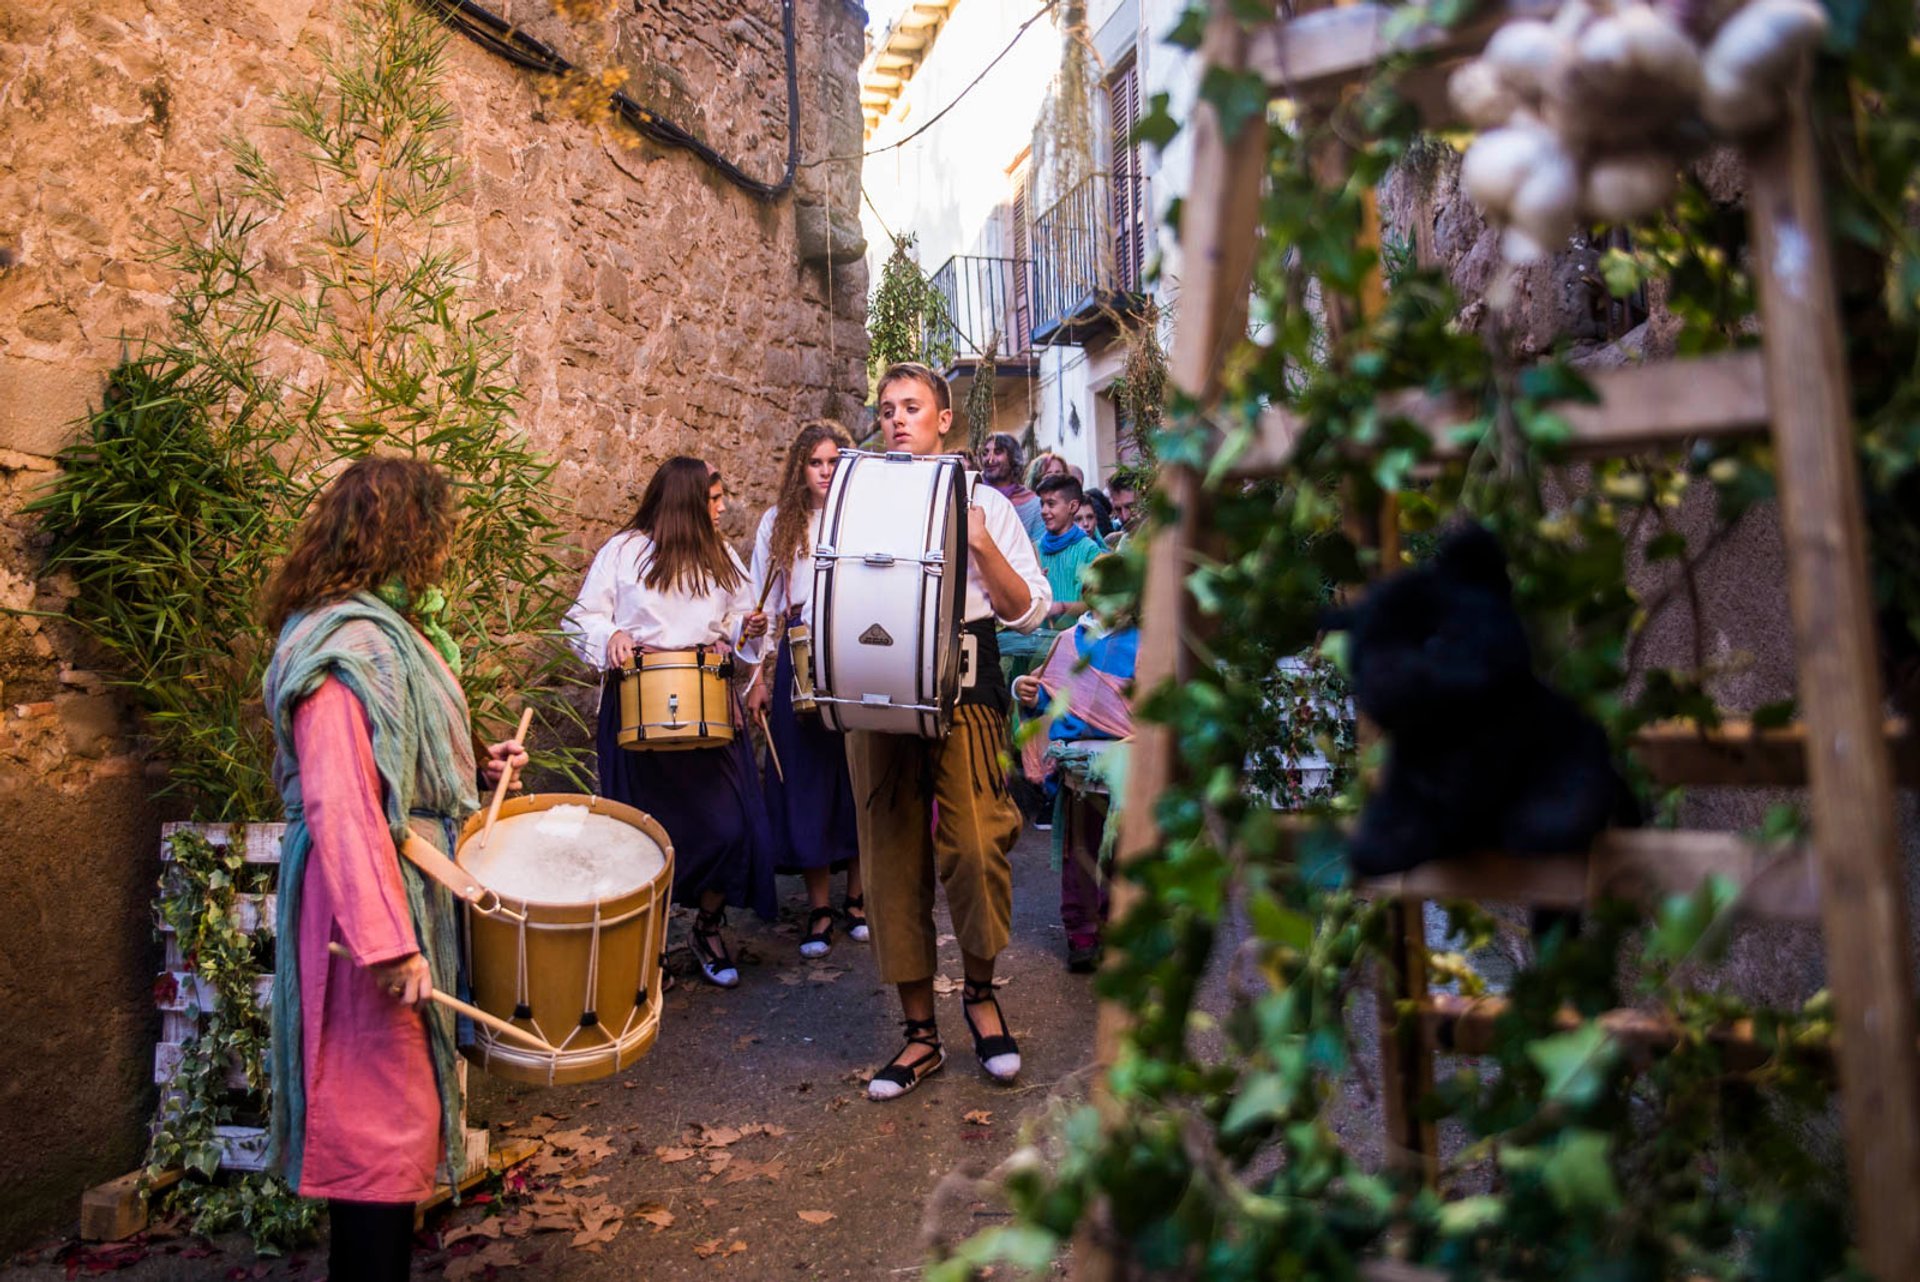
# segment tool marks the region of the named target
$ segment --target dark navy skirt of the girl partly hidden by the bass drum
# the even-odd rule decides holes
[[[793,712],[793,651],[780,639],[774,706],[766,714],[785,781],[766,766],[766,814],[774,871],[841,867],[860,858],[860,829],[847,777],[847,741],[812,712]]]

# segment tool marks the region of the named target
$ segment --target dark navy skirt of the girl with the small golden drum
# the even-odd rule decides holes
[[[620,687],[601,687],[599,795],[653,816],[674,843],[674,902],[701,906],[720,890],[730,908],[772,921],[774,843],[747,735],[724,748],[630,752],[620,747]]]

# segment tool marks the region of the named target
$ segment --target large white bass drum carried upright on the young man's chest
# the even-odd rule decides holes
[[[828,729],[947,735],[966,505],[958,455],[841,453],[814,549],[814,704]]]

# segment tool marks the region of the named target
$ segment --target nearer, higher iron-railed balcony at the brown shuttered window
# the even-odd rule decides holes
[[[1033,345],[1083,345],[1146,303],[1137,177],[1100,173],[1033,221]]]

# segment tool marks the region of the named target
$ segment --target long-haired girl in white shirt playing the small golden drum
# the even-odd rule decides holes
[[[676,457],[647,482],[634,520],[607,539],[563,624],[601,687],[599,793],[645,810],[674,839],[674,902],[697,910],[693,960],[722,988],[739,967],[726,910],[774,915],[774,869],[753,764],[733,747],[630,752],[620,747],[618,670],[636,651],[739,645],[766,633],[747,568],[714,524],[718,474]]]

